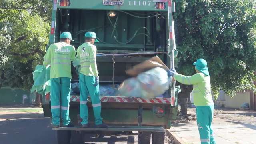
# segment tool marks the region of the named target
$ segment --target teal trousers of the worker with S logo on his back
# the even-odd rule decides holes
[[[81,124],[88,124],[88,107],[87,99],[90,95],[92,101],[92,108],[94,112],[95,125],[102,124],[101,103],[100,103],[100,88],[99,85],[94,86],[95,76],[85,76],[79,74],[80,86],[80,117],[82,118]]]

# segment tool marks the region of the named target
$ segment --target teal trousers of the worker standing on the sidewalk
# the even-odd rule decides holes
[[[196,117],[201,144],[216,144],[212,130],[214,105],[196,106]]]

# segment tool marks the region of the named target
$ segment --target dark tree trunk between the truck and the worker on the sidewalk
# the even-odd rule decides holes
[[[177,82],[177,86],[180,86],[181,92],[179,93],[179,103],[181,115],[187,115],[188,98],[190,99],[190,93],[193,90],[193,85],[185,85]]]

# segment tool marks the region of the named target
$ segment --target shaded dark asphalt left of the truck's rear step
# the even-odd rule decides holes
[[[56,144],[56,132],[47,127],[49,122],[42,114],[0,121],[0,144]]]

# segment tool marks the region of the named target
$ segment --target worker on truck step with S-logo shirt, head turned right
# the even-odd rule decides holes
[[[96,51],[97,48],[94,42],[99,42],[96,39],[94,32],[86,32],[85,43],[77,49],[76,58],[80,60],[81,71],[79,74],[80,86],[80,117],[82,118],[82,127],[88,127],[88,95],[91,97],[92,108],[94,112],[96,127],[107,127],[102,122],[101,102],[100,102],[100,89],[99,89],[99,72],[96,64]]]

